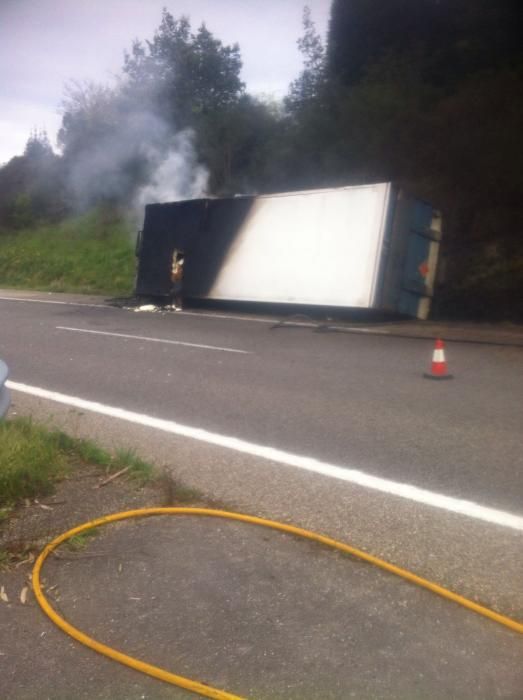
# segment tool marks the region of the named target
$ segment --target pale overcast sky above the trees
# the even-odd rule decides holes
[[[251,94],[281,97],[302,67],[296,41],[308,5],[324,37],[330,0],[0,0],[0,164],[23,152],[32,129],[53,147],[64,85],[111,83],[133,39],[150,39],[162,7],[205,21],[225,44],[238,42]]]

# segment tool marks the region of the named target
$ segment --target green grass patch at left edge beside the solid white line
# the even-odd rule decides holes
[[[128,468],[141,482],[153,468],[131,450],[111,455],[90,440],[49,430],[27,418],[0,422],[0,513],[24,498],[44,496],[78,462],[105,467],[107,472]]]

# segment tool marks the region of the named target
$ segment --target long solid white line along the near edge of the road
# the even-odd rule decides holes
[[[293,454],[292,452],[285,452],[274,447],[257,445],[256,443],[247,442],[240,438],[212,433],[203,428],[193,428],[188,425],[182,425],[181,423],[175,423],[174,421],[154,418],[153,416],[148,416],[143,413],[135,413],[134,411],[127,411],[123,408],[107,406],[96,401],[87,401],[86,399],[80,399],[76,396],[59,394],[55,391],[12,381],[6,382],[6,385],[13,391],[20,391],[24,394],[30,394],[31,396],[38,396],[39,398],[55,401],[56,403],[65,404],[66,406],[74,406],[85,411],[92,411],[93,413],[99,413],[112,418],[119,418],[130,423],[155,428],[156,430],[163,430],[166,433],[181,435],[210,445],[225,447],[243,454],[261,457],[271,462],[279,462],[287,466],[315,472],[316,474],[347,481],[368,489],[399,496],[416,503],[422,503],[452,513],[466,515],[476,520],[483,520],[484,522],[494,523],[495,525],[501,525],[502,527],[511,528],[513,530],[523,530],[522,516],[482,506],[473,501],[445,496],[444,494],[421,489],[417,486],[411,486],[410,484],[402,484],[397,481],[391,481],[390,479],[372,476],[358,469],[328,464],[327,462],[321,462],[313,457],[305,457],[303,455]]]

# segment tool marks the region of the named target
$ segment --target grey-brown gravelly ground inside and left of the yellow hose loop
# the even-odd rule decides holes
[[[98,516],[207,505],[172,481],[137,486],[78,469],[22,506],[2,542],[5,700],[196,697],[86,649],[44,616],[28,587],[43,541]],[[18,551],[17,551],[18,547]],[[339,552],[241,523],[147,518],[62,546],[43,572],[57,611],[96,639],[229,692],[267,698],[519,698],[521,639]]]

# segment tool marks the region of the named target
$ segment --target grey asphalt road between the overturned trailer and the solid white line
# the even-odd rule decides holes
[[[521,511],[521,349],[452,344],[456,378],[437,383],[426,340],[15,301],[0,314],[14,381]]]

